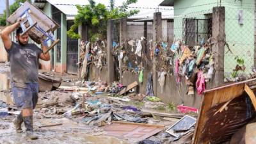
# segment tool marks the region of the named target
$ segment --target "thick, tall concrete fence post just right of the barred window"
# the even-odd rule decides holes
[[[224,83],[224,55],[225,55],[225,7],[218,6],[212,10],[212,37],[216,44],[212,47],[214,54],[213,87]]]

